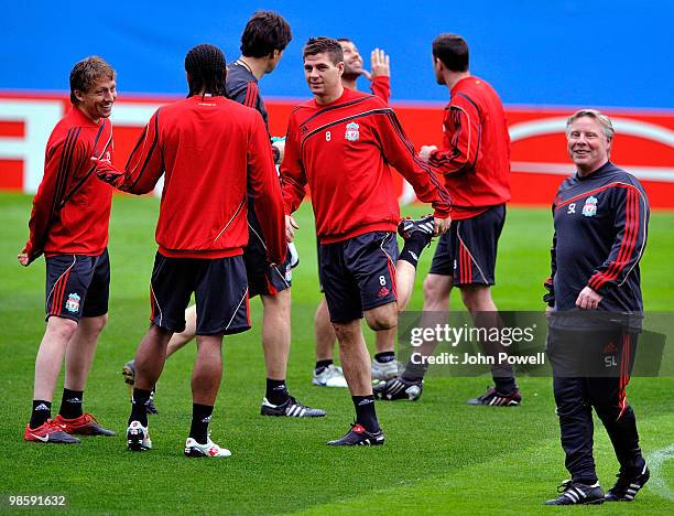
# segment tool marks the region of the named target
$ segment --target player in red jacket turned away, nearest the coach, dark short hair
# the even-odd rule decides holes
[[[461,36],[438,35],[433,42],[433,63],[437,84],[447,87],[452,99],[445,108],[442,149],[422,147],[420,157],[444,175],[454,204],[452,227],[439,239],[424,281],[423,310],[430,318],[446,313],[449,292],[457,287],[475,324],[496,327],[500,323],[490,287],[494,283],[497,246],[510,200],[508,123],[493,88],[470,75],[468,45]],[[494,354],[506,350],[494,344],[485,351]],[[401,377],[378,386],[378,395],[382,399],[418,399],[424,374],[424,367],[409,363]],[[522,398],[512,368],[496,365],[492,377],[496,388],[468,404],[520,405]]]

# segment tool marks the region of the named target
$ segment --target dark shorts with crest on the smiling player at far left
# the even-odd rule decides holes
[[[56,316],[79,321],[108,313],[108,249],[99,256],[58,255],[45,260],[45,320]]]

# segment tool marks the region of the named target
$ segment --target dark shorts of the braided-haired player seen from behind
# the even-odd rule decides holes
[[[248,283],[241,256],[215,259],[154,258],[150,283],[150,320],[164,330],[185,330],[192,293],[197,335],[229,335],[250,330]]]

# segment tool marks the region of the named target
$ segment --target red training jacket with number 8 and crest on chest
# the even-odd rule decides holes
[[[320,244],[395,232],[400,209],[389,163],[437,217],[449,215],[449,194],[381,99],[345,88],[329,105],[308,100],[289,120],[281,164],[285,213],[297,209],[308,183]]]

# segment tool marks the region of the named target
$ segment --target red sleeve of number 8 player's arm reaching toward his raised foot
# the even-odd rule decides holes
[[[395,112],[389,108],[385,116],[378,116],[376,119],[384,158],[407,180],[418,200],[433,206],[436,217],[447,218],[452,211],[449,193],[428,165],[416,155],[414,146],[405,136]]]

